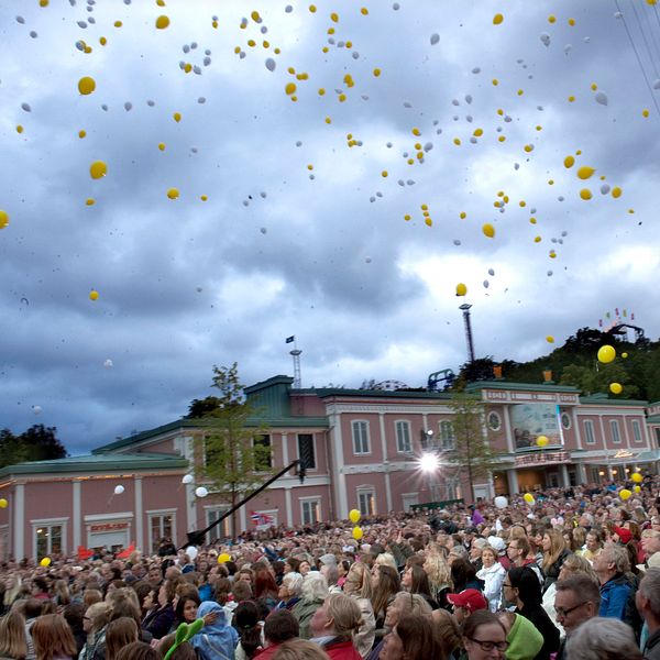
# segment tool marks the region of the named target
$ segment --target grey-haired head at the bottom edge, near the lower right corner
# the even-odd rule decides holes
[[[617,618],[600,616],[575,629],[566,642],[566,656],[580,660],[641,660],[632,628]]]

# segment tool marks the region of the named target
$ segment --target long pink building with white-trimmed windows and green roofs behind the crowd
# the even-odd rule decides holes
[[[239,510],[239,529],[258,521],[345,519],[352,508],[386,514],[429,502],[622,480],[637,469],[656,472],[660,458],[660,404],[647,411],[646,402],[581,398],[575,388],[552,383],[480,382],[469,392],[484,403],[483,441],[499,464],[490,479],[469,484],[464,466],[451,458],[449,394],[292,384],[274,376],[245,394],[263,411],[253,426],[255,432],[268,429],[260,442],[271,447],[273,469],[307,457],[305,482],[287,472]],[[0,559],[132,542],[152,552],[162,536],[184,544],[187,531],[204,529],[228,509],[221,494],[197,497],[204,484],[182,481],[201,460],[204,430],[202,420],[180,419],[89,457],[0,470],[0,498],[9,503],[0,508]],[[541,435],[548,438],[543,448],[536,442]],[[442,461],[424,473],[419,459],[428,452]],[[116,495],[118,485],[123,492]],[[226,520],[209,538],[228,534]]]

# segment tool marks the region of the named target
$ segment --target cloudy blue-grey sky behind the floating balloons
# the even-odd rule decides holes
[[[657,339],[646,0],[46,4],[0,3],[0,427],[82,453],[213,364],[292,374],[292,334],[304,386],[419,386],[466,359],[459,283],[479,355],[617,307]]]

